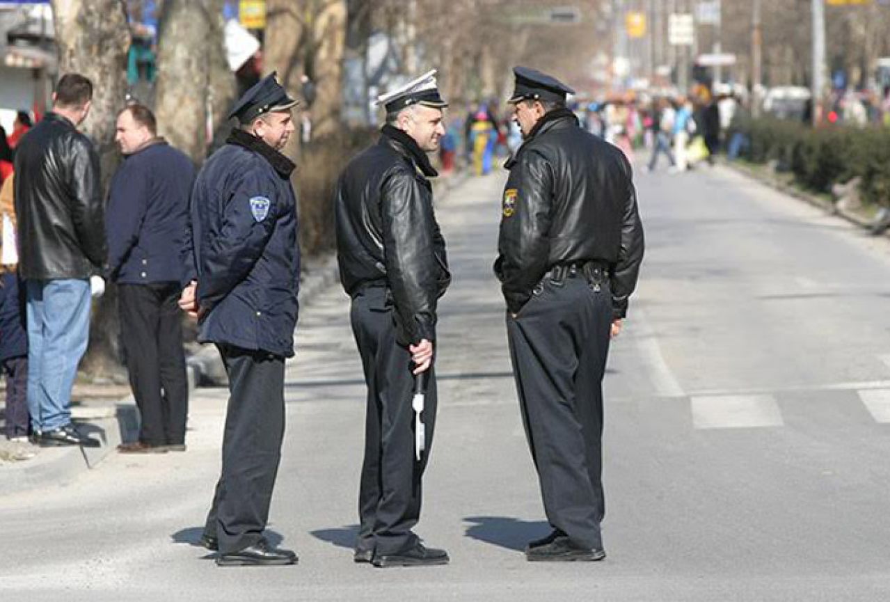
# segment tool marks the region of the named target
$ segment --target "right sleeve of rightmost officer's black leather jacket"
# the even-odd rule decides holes
[[[627,315],[627,299],[636,288],[636,280],[643,262],[643,223],[636,205],[636,189],[627,159],[623,161],[627,174],[627,195],[621,224],[621,247],[618,262],[611,274],[612,317],[624,318]]]

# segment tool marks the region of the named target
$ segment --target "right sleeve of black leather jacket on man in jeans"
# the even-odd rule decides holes
[[[101,268],[105,264],[107,248],[99,155],[85,138],[74,138],[71,144],[71,220],[84,255],[91,264]]]

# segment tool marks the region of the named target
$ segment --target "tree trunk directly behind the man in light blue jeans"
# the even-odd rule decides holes
[[[61,73],[77,72],[93,82],[93,108],[84,122],[101,160],[102,188],[117,168],[114,142],[117,110],[126,92],[130,30],[122,0],[53,0]],[[93,375],[119,373],[117,299],[113,287],[93,307],[90,347],[82,364]]]

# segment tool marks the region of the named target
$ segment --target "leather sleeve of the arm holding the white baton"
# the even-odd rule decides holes
[[[384,263],[401,345],[435,340],[440,273],[433,253],[436,226],[420,186],[413,175],[396,172],[384,181],[380,198]]]

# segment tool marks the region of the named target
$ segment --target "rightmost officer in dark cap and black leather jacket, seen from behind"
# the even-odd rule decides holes
[[[566,109],[572,90],[514,69],[524,142],[506,167],[495,273],[522,419],[553,532],[529,560],[600,560],[602,381],[610,336],[627,313],[643,226],[621,151]]]

